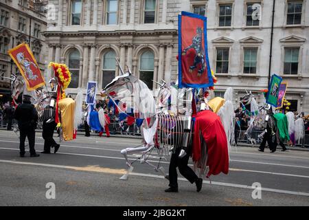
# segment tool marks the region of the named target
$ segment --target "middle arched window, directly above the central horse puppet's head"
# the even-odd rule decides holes
[[[106,87],[115,78],[116,72],[116,53],[113,50],[106,52],[102,63],[102,88]]]

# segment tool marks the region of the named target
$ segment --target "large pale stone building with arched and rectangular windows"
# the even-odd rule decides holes
[[[148,87],[177,78],[178,14],[207,17],[214,96],[234,88],[235,105],[245,90],[263,102],[268,85],[273,1],[266,0],[50,0],[47,61],[67,63],[69,93],[98,81],[102,89],[119,74],[115,57]],[[258,19],[257,19],[258,18]],[[271,73],[288,83],[293,110],[309,113],[309,3],[275,0]],[[52,76],[50,70],[45,76]]]

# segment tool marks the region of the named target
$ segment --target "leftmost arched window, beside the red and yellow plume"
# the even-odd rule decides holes
[[[69,54],[69,70],[71,72],[71,83],[69,88],[77,88],[80,78],[80,52],[72,50]]]

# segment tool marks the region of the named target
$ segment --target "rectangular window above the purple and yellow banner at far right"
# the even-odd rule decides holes
[[[284,74],[298,74],[299,48],[284,49]]]

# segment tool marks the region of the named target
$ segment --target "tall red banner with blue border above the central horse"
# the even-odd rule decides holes
[[[190,12],[179,15],[179,88],[214,85],[207,51],[207,18]]]

